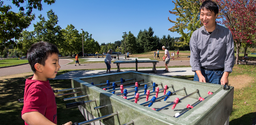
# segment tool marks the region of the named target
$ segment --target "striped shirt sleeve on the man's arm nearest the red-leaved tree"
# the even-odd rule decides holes
[[[231,31],[227,34],[226,39],[226,59],[224,72],[232,72],[235,63],[234,41]]]

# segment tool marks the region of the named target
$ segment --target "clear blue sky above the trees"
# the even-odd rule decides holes
[[[12,6],[12,11],[18,12],[19,8],[11,1],[4,1]],[[33,31],[33,23],[39,22],[38,16],[42,14],[47,18],[46,12],[50,9],[58,16],[58,25],[63,29],[72,24],[92,34],[95,41],[100,44],[115,42],[122,39],[123,32],[131,31],[137,37],[139,30],[152,27],[154,35],[162,37],[170,34],[171,37],[180,37],[177,32],[170,32],[168,28],[174,26],[167,20],[168,16],[176,20],[177,16],[170,14],[174,3],[171,0],[57,0],[52,5],[42,2],[43,10],[33,9],[36,19],[32,21],[28,31]]]

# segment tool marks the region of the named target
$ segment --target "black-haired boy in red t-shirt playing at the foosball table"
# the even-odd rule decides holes
[[[28,61],[34,76],[25,83],[24,107],[21,111],[25,125],[56,125],[57,105],[48,78],[59,71],[59,50],[48,42],[37,42],[28,50]],[[64,125],[71,125],[68,122]]]

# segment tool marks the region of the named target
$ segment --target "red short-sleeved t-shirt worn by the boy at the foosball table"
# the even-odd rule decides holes
[[[21,115],[36,111],[57,124],[57,105],[49,80],[46,82],[32,78],[27,78],[25,83],[24,107]],[[28,124],[25,122],[25,125]]]

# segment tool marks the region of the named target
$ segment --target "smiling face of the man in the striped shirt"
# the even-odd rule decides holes
[[[217,18],[218,14],[214,14],[214,12],[211,12],[210,10],[201,9],[200,12],[200,20],[204,24],[204,27],[212,28],[215,26],[215,19]]]

